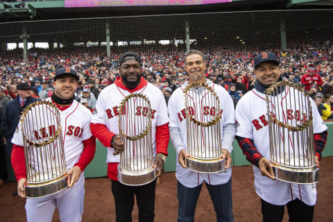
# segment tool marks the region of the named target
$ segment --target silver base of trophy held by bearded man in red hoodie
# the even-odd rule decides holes
[[[119,182],[123,185],[128,186],[142,186],[149,182],[152,182],[156,178],[156,169],[151,167],[142,172],[130,172],[121,169],[120,164],[118,165],[118,176]]]

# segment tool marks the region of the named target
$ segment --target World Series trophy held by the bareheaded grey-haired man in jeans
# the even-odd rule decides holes
[[[221,148],[220,101],[212,87],[192,83],[185,87],[187,167],[201,173],[225,171]]]

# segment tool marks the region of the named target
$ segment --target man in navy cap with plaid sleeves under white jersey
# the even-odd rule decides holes
[[[264,90],[282,80],[278,57],[274,53],[261,53],[254,59],[255,89],[247,92],[237,103],[236,139],[253,164],[255,190],[262,202],[263,221],[282,221],[284,205],[287,205],[289,221],[312,221],[316,203],[316,185],[300,185],[275,180],[269,151],[269,130],[266,94]],[[283,90],[283,89],[282,89]],[[316,164],[319,165],[321,151],[327,139],[327,127],[316,111],[316,103],[311,100],[314,118],[314,147]],[[288,113],[297,115],[299,110]]]

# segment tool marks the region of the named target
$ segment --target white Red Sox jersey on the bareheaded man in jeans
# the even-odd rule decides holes
[[[216,85],[209,80],[206,80],[206,84],[216,92],[217,96],[219,96],[220,100],[220,109],[221,109],[221,140],[223,138],[223,126],[227,124],[234,124],[234,105],[232,99],[227,91],[220,85]],[[186,121],[186,112],[185,112],[185,96],[184,89],[188,85],[185,83],[181,87],[178,87],[175,92],[171,95],[168,103],[168,111],[169,111],[169,127],[179,128],[180,134],[182,135],[182,144],[187,151],[187,121]],[[204,95],[202,95],[205,97]],[[212,110],[214,108],[207,108],[208,110]],[[210,114],[210,112],[207,112]],[[198,185],[202,184],[205,181],[210,185],[221,185],[225,184],[230,180],[231,177],[231,167],[225,172],[221,173],[197,173],[191,171],[189,169],[183,168],[178,162],[178,155],[182,148],[176,148],[177,153],[177,161],[176,161],[176,178],[177,180],[184,185],[185,187],[193,188],[198,187]],[[232,146],[223,146],[229,151],[232,152]]]

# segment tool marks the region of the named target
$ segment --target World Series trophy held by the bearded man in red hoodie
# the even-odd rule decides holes
[[[155,180],[151,134],[151,103],[142,94],[130,94],[119,107],[119,134],[124,143],[118,180],[124,185],[146,185]]]

